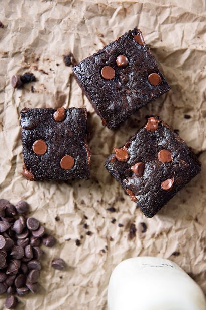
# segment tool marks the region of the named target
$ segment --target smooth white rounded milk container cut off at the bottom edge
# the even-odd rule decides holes
[[[206,310],[201,288],[175,263],[131,258],[113,271],[108,310]]]

